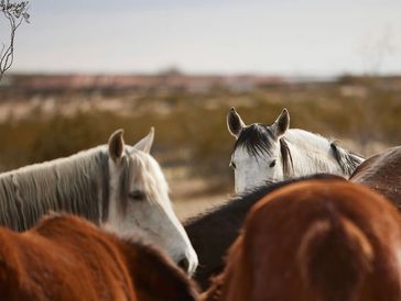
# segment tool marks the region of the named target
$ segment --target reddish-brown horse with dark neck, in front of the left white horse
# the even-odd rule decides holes
[[[54,215],[24,233],[0,228],[2,301],[196,300],[175,264],[138,238]]]

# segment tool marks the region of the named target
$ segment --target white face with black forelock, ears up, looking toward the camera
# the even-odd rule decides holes
[[[280,138],[290,124],[288,111],[271,125],[246,125],[234,108],[227,116],[228,130],[237,141],[230,167],[235,170],[236,192],[284,179]]]

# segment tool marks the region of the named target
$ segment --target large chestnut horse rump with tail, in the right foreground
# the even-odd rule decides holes
[[[397,210],[359,185],[308,180],[264,197],[201,300],[399,301]]]

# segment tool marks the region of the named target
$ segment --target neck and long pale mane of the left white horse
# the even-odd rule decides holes
[[[28,230],[52,210],[99,224],[108,215],[108,153],[101,147],[2,174],[0,224]]]

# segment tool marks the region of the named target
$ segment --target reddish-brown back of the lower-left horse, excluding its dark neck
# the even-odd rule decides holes
[[[91,227],[50,218],[22,234],[1,228],[2,300],[137,300],[118,248]]]

